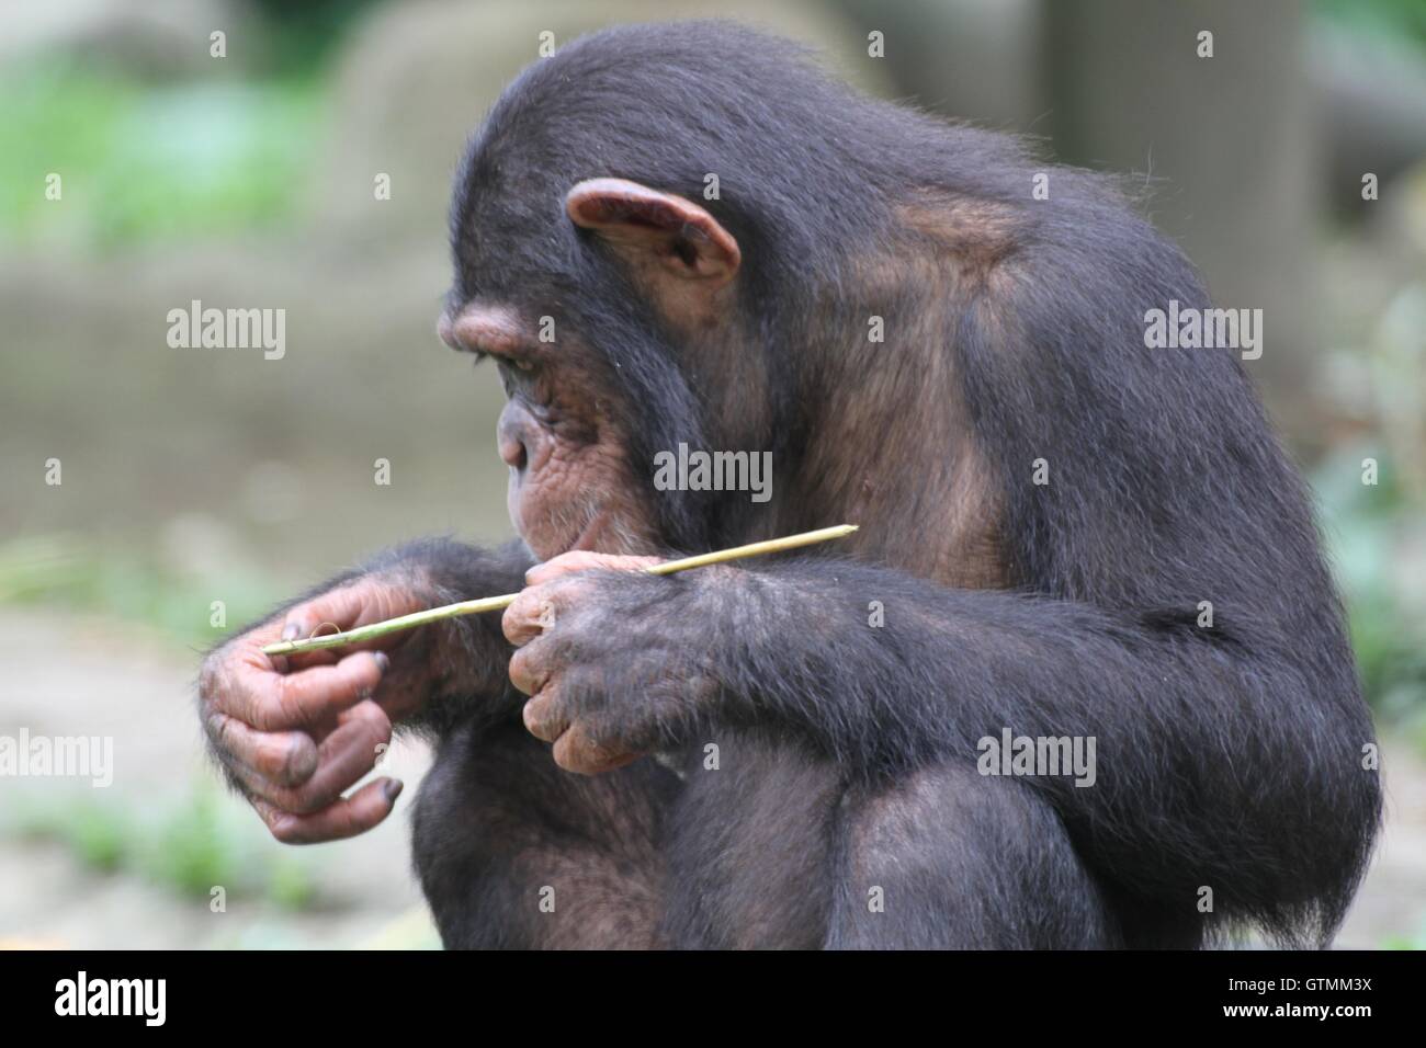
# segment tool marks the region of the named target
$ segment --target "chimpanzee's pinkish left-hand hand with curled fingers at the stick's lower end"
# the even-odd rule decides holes
[[[278,639],[347,630],[424,607],[398,573],[364,575],[234,637],[202,664],[200,714],[228,780],[279,841],[308,844],[365,833],[401,793],[376,779],[342,791],[375,766],[391,723],[419,707],[429,664],[415,632],[338,650],[267,656]],[[332,632],[324,629],[322,632]]]

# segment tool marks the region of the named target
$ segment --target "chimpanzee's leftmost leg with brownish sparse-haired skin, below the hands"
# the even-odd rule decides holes
[[[657,945],[662,813],[677,787],[655,760],[570,774],[518,724],[448,736],[412,833],[446,948]]]

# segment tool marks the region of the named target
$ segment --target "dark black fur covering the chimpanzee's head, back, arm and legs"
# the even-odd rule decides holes
[[[769,389],[747,391],[771,408],[764,432],[707,416],[699,384],[716,376],[692,378],[563,211],[595,175],[703,202],[709,171],[723,198],[707,207],[746,260],[749,352],[767,354]],[[1035,171],[1052,173],[1048,202],[1031,200]],[[864,252],[898,242],[894,205],[923,188],[1014,221],[1011,279],[877,304],[890,327],[935,311],[943,338],[920,351],[953,355],[1004,499],[1012,589],[894,570],[898,546],[937,540],[937,519],[910,508],[888,509],[884,545],[860,563],[750,565],[722,596],[660,580],[667,606],[645,613],[677,622],[689,600],[686,642],[722,667],[714,711],[660,724],[682,777],[653,760],[568,776],[516,727],[518,696],[471,697],[483,713],[445,724],[416,814],[449,945],[1186,947],[1242,923],[1330,938],[1380,798],[1308,498],[1233,354],[1144,348],[1145,309],[1206,297],[1105,180],[853,96],[737,27],[617,29],[530,66],[472,141],[452,298],[555,311],[605,346],[635,462],[679,441],[760,446],[781,492],[807,490],[810,442],[843,453],[816,412],[829,368],[846,382],[893,366],[854,342],[867,304],[837,289]],[[838,325],[851,335],[813,344]],[[906,506],[937,476],[935,448],[921,462],[844,453],[866,455],[883,498]],[[1050,486],[1030,483],[1038,458]],[[649,499],[670,549],[841,519],[786,495],[756,522],[746,499],[652,486]],[[421,553],[452,592],[508,589],[468,556]],[[888,609],[884,629],[867,627],[870,599]],[[1199,600],[1212,630],[1195,626]],[[710,609],[737,629],[710,629]],[[975,740],[1005,726],[1095,736],[1097,786],[977,776]],[[709,740],[716,774],[700,766]],[[868,884],[884,914],[868,914]],[[555,915],[533,908],[542,885]],[[1196,908],[1201,885],[1212,914]]]

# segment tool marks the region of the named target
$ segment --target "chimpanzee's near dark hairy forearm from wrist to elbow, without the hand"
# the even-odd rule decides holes
[[[1007,729],[1092,737],[1092,784],[1030,780],[1071,833],[1111,871],[1122,863],[1175,884],[1219,874],[1253,900],[1309,898],[1322,885],[1293,881],[1315,871],[1329,885],[1338,863],[1323,851],[1348,868],[1370,840],[1376,784],[1359,757],[1372,729],[1329,595],[1316,637],[1253,616],[1241,627],[1249,636],[1225,637],[1192,617],[1165,629],[851,563],[706,582],[700,600],[713,603],[700,605],[697,629],[719,714],[801,734],[853,774],[978,760],[978,741],[1001,743]],[[870,625],[870,602],[883,626]],[[1315,652],[1310,669],[1303,652]]]

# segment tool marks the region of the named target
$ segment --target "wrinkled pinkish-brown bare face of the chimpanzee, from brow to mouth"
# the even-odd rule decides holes
[[[597,376],[578,339],[542,344],[502,305],[446,312],[441,339],[493,358],[506,404],[496,446],[511,468],[511,522],[540,560],[575,549],[649,553],[660,546],[623,435],[600,409]]]

